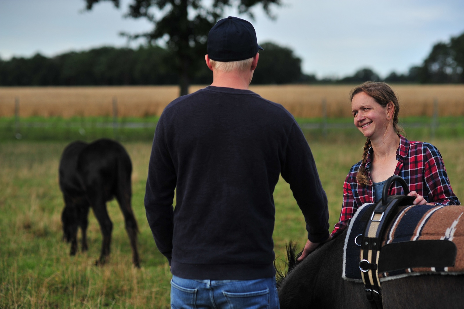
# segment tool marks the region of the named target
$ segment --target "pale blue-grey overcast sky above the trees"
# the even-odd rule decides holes
[[[151,28],[122,17],[129,1],[121,0],[119,10],[103,2],[83,12],[84,0],[0,0],[0,57],[124,46],[120,31]],[[276,20],[254,9],[258,42],[290,47],[302,58],[303,71],[317,77],[344,77],[364,67],[382,77],[403,73],[421,64],[435,43],[464,32],[463,0],[282,2],[272,10]]]

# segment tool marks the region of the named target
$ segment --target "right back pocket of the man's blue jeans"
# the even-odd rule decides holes
[[[246,292],[232,293],[222,292],[229,303],[230,309],[268,309],[269,308],[269,289]]]

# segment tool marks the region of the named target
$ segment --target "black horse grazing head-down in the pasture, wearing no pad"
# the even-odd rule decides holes
[[[71,242],[71,255],[77,251],[78,227],[82,230],[82,251],[87,251],[86,230],[89,207],[92,207],[103,234],[102,252],[96,264],[108,261],[113,224],[106,202],[116,197],[129,234],[132,261],[140,267],[137,222],[130,203],[131,174],[130,157],[118,142],[109,139],[90,144],[77,141],[64,148],[59,163],[59,186],[65,205],[61,220],[64,238]]]

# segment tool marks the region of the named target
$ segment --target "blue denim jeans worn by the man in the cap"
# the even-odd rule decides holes
[[[172,309],[279,309],[276,279],[193,280],[173,276]]]

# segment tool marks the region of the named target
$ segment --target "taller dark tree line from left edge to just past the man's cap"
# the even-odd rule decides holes
[[[290,84],[304,80],[301,59],[289,48],[267,42],[259,58],[254,84]],[[211,84],[213,72],[198,59],[193,84]],[[66,52],[48,58],[0,59],[1,86],[84,86],[179,84],[176,58],[168,49],[141,45],[137,49],[101,47],[83,52]]]

